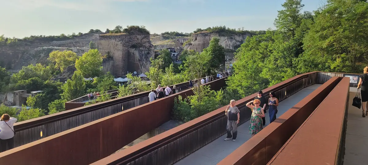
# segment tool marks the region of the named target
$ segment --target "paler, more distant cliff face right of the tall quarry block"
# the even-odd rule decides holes
[[[220,38],[220,45],[222,45],[225,49],[236,50],[240,47],[241,44],[244,43],[246,35],[232,35],[232,36],[220,36],[217,33],[208,33],[208,32],[199,32],[192,34],[191,39],[192,42],[185,45],[186,49],[193,49],[198,52],[202,52],[204,48],[208,47],[209,42],[212,37]]]

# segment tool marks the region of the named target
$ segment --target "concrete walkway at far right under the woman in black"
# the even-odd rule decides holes
[[[368,117],[352,106],[357,88],[350,87],[344,165],[368,165]]]

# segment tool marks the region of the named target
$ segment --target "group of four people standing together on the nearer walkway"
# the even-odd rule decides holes
[[[226,132],[227,136],[224,139],[233,141],[236,140],[237,137],[237,126],[240,121],[240,110],[235,106],[236,101],[230,100],[230,105],[226,107],[225,115],[227,116],[227,125]],[[246,104],[252,111],[250,125],[249,125],[249,133],[252,137],[263,129],[263,126],[266,124],[265,113],[266,113],[266,105],[269,106],[269,117],[270,123],[276,120],[277,114],[277,106],[279,106],[279,100],[276,98],[275,92],[269,93],[269,99],[266,101],[266,98],[263,96],[262,91],[257,92],[257,96],[254,100],[248,102]],[[231,134],[232,133],[232,134]]]

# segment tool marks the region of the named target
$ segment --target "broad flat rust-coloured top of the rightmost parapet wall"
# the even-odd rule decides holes
[[[350,78],[343,78],[290,137],[268,165],[340,165]]]

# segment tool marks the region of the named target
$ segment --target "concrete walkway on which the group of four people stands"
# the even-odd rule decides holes
[[[311,94],[315,89],[317,89],[321,84],[315,84],[310,87],[304,88],[296,94],[290,96],[289,98],[283,100],[279,103],[277,109],[279,110],[276,117],[279,117],[295,104],[300,102],[300,100],[304,99],[306,96]],[[269,114],[266,113],[266,125],[270,122]],[[368,118],[367,118],[368,119]],[[247,142],[248,139],[251,138],[251,135],[248,133],[249,121],[244,124],[238,126],[238,136],[236,141],[232,140],[224,141],[226,134],[214,140],[213,142],[207,144],[206,146],[200,148],[194,153],[188,155],[187,157],[178,161],[175,165],[215,165],[220,162],[222,159],[227,157],[230,153],[232,153],[236,148],[240,147],[243,143]],[[366,125],[368,128],[368,125]],[[224,129],[224,128],[223,128]],[[367,133],[368,135],[368,133]]]

